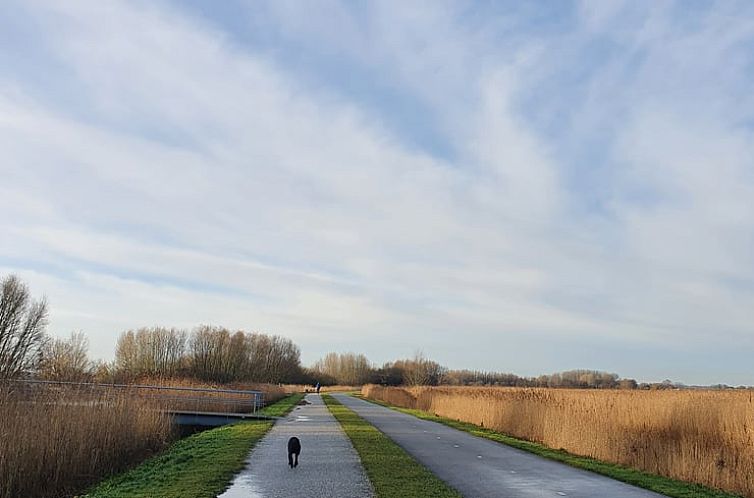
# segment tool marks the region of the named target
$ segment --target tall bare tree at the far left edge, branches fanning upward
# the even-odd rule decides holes
[[[31,299],[28,287],[10,275],[0,284],[0,378],[37,368],[45,343],[47,302]]]

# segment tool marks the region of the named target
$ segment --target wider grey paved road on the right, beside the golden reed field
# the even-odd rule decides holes
[[[662,496],[358,398],[335,397],[469,498]]]

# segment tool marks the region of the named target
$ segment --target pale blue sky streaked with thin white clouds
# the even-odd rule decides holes
[[[382,363],[754,384],[754,3],[0,7],[0,275]]]

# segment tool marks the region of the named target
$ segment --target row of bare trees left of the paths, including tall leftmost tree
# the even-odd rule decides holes
[[[47,303],[34,300],[15,275],[0,281],[0,378],[34,375],[49,380],[131,380],[193,377],[210,382],[301,382],[300,350],[276,335],[200,326],[151,327],[123,332],[115,361],[89,359],[89,341],[46,334]]]

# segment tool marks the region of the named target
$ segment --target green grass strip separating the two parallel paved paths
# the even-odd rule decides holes
[[[377,428],[330,395],[322,396],[361,457],[377,498],[460,498]]]

